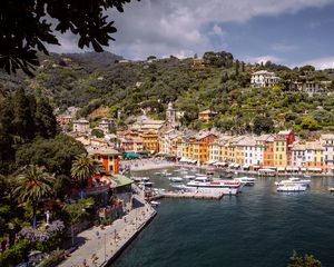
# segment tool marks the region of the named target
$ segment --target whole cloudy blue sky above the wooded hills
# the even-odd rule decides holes
[[[334,68],[334,0],[132,0],[107,13],[118,31],[105,50],[127,59],[224,50],[246,62]],[[59,38],[51,51],[81,51],[76,37]]]

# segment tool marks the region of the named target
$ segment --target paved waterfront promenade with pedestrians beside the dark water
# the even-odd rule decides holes
[[[145,202],[111,226],[94,227],[80,233],[76,239],[84,244],[66,258],[60,267],[107,266],[128,246],[139,231],[155,217],[156,210]]]

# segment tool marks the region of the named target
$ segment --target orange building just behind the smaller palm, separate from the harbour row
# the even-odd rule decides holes
[[[119,172],[119,152],[110,147],[88,147],[87,151],[96,166],[110,175]]]

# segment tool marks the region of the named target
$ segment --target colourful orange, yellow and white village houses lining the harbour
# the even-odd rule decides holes
[[[186,164],[253,170],[275,167],[278,171],[334,172],[334,135],[305,141],[291,130],[262,136],[227,136],[216,130],[195,132],[180,130],[177,112],[169,105],[166,120],[141,116],[127,130],[116,134],[108,132],[109,127],[115,127],[114,121],[104,118],[98,126],[106,132],[104,138],[89,136],[87,120],[76,120],[71,135],[86,146],[94,160],[112,174],[119,171],[120,155],[125,159],[159,155]],[[198,116],[207,121],[215,113],[205,110]]]

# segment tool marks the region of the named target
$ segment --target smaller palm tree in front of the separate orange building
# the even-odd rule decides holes
[[[87,180],[90,176],[95,174],[94,165],[90,160],[88,154],[81,154],[76,156],[72,162],[71,176],[76,180],[80,180],[80,197],[84,198],[84,180]]]

